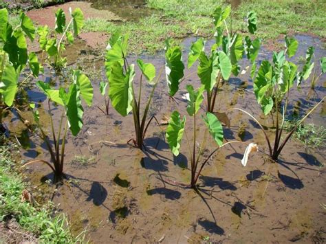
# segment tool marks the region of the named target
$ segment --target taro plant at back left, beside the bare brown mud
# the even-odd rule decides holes
[[[66,24],[65,12],[61,8],[56,11],[56,26],[50,30],[47,25],[39,27],[39,45],[42,49],[42,61],[46,54],[47,60],[52,62],[56,71],[61,71],[67,65],[67,57],[64,56],[67,44],[74,43],[74,36],[78,36],[84,25],[84,15],[80,8],[72,11],[69,8],[70,20]]]

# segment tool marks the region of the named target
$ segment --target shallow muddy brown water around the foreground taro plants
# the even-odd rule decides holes
[[[296,38],[301,46],[293,60],[303,55],[312,44],[316,46],[317,60],[325,56],[323,43],[318,38]],[[186,50],[192,41],[195,38],[184,41]],[[211,43],[208,42],[208,45]],[[271,55],[263,49],[259,54],[259,63],[263,59],[270,59]],[[164,65],[162,54],[141,58],[153,63],[157,71]],[[184,52],[184,60],[186,58]],[[129,63],[135,62],[135,59],[134,56],[130,57]],[[83,63],[75,65],[83,67]],[[245,61],[241,65],[244,68],[248,63]],[[98,66],[94,66],[98,71]],[[195,69],[186,70],[186,75]],[[140,77],[139,71],[136,72],[135,87],[138,89]],[[104,75],[104,70],[101,73]],[[48,76],[52,75],[40,78],[45,80]],[[281,155],[280,164],[270,164],[263,153],[257,153],[250,156],[248,166],[243,168],[241,157],[245,146],[226,146],[204,168],[199,179],[201,190],[197,194],[170,183],[181,181],[187,184],[190,180],[185,138],[178,157],[173,157],[164,134],[155,123],[151,124],[146,135],[148,151],[145,153],[128,145],[100,143],[101,140],[125,143],[134,137],[133,119],[131,115],[122,118],[113,109],[109,116],[103,115],[96,107],[104,106],[98,91],[100,79],[91,80],[95,88],[94,106],[85,109],[84,126],[78,137],[69,135],[67,138],[65,173],[69,181],[58,188],[53,199],[60,204],[60,210],[67,213],[74,233],[87,230],[87,237],[93,243],[197,243],[207,236],[212,242],[230,243],[266,240],[320,242],[325,239],[325,210],[320,205],[325,203],[325,151],[307,150],[302,144],[291,141]],[[301,109],[309,109],[325,96],[324,80],[325,76],[320,78],[314,92],[309,85],[303,85],[301,91],[294,89],[291,93],[292,104],[300,102]],[[182,98],[186,84],[199,87],[196,74],[188,76],[180,85],[180,92],[176,96],[178,104],[175,104],[166,96],[164,77],[160,78],[151,114],[156,115],[158,120],[163,115],[169,116],[176,108],[183,115],[186,114],[186,102]],[[142,106],[151,87],[145,85],[143,91]],[[43,99],[40,100],[39,104],[46,108]],[[228,85],[221,87],[216,107],[219,111],[240,107],[254,114],[263,125],[273,126],[270,116],[261,115],[252,93],[252,80],[247,74],[232,77]],[[290,108],[290,115],[294,109],[295,106]],[[322,107],[318,108],[308,121],[325,124],[325,113],[322,111]],[[61,113],[60,109],[52,112],[56,118]],[[260,150],[267,152],[257,124],[241,113],[232,112],[229,115],[232,124],[230,128],[224,128],[227,140],[257,142]],[[46,118],[46,114],[43,116]],[[193,118],[188,117],[186,131],[189,136],[192,123]],[[13,128],[19,122],[9,124]],[[197,142],[200,143],[204,134],[200,115],[197,124]],[[55,128],[58,128],[58,122],[55,122]],[[34,146],[23,152],[25,159],[37,155],[37,158],[48,159],[44,145],[35,136],[31,139]],[[189,139],[192,139],[191,136]],[[210,138],[207,145],[204,155],[215,148]],[[30,166],[27,172],[36,185],[45,175],[51,177],[49,174],[48,168],[38,165]],[[51,197],[52,194],[49,194]]]

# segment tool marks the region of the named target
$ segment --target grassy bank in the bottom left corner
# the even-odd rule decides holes
[[[40,206],[39,203],[21,201],[23,190],[28,188],[12,153],[18,148],[0,146],[0,221],[15,219],[21,228],[31,232],[41,243],[77,243],[83,241],[74,238],[69,231],[67,219],[63,214],[53,215],[52,203]]]

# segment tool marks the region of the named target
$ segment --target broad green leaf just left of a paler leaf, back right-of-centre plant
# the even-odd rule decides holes
[[[197,74],[202,85],[205,86],[205,90],[212,91],[219,74],[219,56],[217,52],[213,52],[210,58],[207,58],[204,52],[200,54]]]

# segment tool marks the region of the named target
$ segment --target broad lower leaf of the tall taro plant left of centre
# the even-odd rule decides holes
[[[109,97],[112,106],[120,115],[126,116],[133,109],[133,77],[135,76],[134,65],[130,65],[127,74],[123,74],[122,65],[119,62],[111,65],[111,76],[109,79]]]

